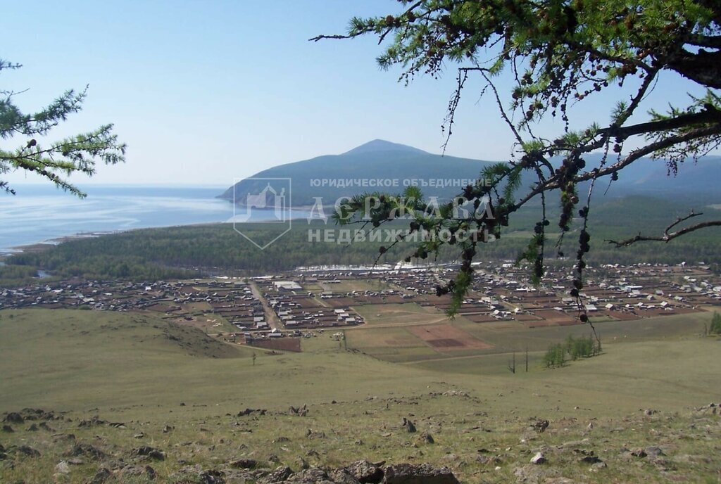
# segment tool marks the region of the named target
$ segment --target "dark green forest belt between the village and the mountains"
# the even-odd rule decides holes
[[[718,211],[709,205],[698,202],[696,205],[699,206],[642,196],[611,199],[598,205],[593,240],[590,241],[592,250],[589,263],[678,264],[682,261],[703,261],[718,271],[721,266],[721,254],[718,252],[720,228],[700,230],[671,243],[646,242],[616,248],[604,241],[611,237],[633,236],[640,231],[661,233],[677,216],[690,210],[689,207],[707,210],[708,214],[704,217],[710,217]],[[526,228],[528,221],[534,220],[537,209],[528,207],[519,212],[500,241],[480,244],[477,260],[484,263],[515,260],[528,242]],[[397,220],[384,225],[384,228],[402,230],[407,226],[407,220]],[[269,230],[264,224],[244,224],[243,227],[243,232],[250,238],[263,238],[264,231]],[[252,276],[277,274],[298,266],[371,265],[376,259],[379,263],[396,264],[413,252],[411,242],[391,246],[389,242],[392,241],[386,240],[385,235],[379,240],[350,244],[340,241],[338,236],[332,238],[332,241],[324,241],[322,236],[309,237],[309,231],[318,230],[324,233],[324,230],[338,228],[332,223],[324,225],[320,220],[314,220],[311,224],[306,220],[298,220],[289,233],[265,250],[260,250],[236,233],[231,224],[130,230],[97,238],[82,238],[52,246],[45,251],[8,257],[4,261],[5,265],[0,266],[0,286],[12,287],[37,280],[38,270],[48,272],[53,279],[84,277],[158,280],[213,275]],[[575,230],[578,231],[578,228]],[[566,240],[572,246],[574,230],[567,234]],[[380,254],[381,246],[384,254]],[[412,262],[455,261],[456,254],[450,249],[443,246],[437,256],[429,254],[425,260],[412,259]],[[572,266],[567,256],[554,258],[556,254],[549,255],[548,265]]]

